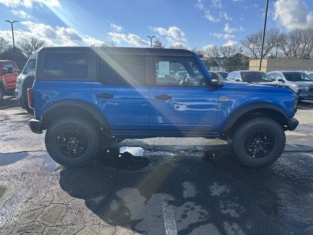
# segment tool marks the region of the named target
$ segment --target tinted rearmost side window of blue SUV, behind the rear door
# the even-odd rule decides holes
[[[44,76],[51,78],[87,78],[88,59],[84,53],[47,53]]]

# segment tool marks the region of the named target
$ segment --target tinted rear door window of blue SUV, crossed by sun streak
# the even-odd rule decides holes
[[[99,62],[99,82],[112,85],[144,85],[145,57],[103,55]]]

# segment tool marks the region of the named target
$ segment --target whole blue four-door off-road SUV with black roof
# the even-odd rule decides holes
[[[186,71],[179,76],[179,71]],[[223,81],[182,49],[45,47],[28,102],[59,164],[90,163],[112,141],[204,137],[228,141],[250,167],[276,161],[298,121],[290,89]]]

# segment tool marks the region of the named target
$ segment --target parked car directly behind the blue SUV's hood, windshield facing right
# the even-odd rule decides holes
[[[278,83],[273,81],[265,72],[262,71],[232,71],[228,73],[227,79],[237,82],[278,87]]]

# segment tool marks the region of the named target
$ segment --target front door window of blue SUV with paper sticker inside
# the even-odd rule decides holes
[[[204,76],[193,58],[154,58],[157,86],[205,86]]]

